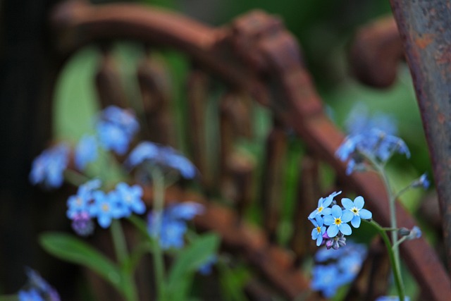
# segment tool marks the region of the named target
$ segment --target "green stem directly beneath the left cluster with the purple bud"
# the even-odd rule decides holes
[[[119,264],[121,264],[121,290],[128,301],[137,301],[137,289],[133,280],[133,271],[124,269],[124,263],[128,260],[127,242],[121,221],[113,219],[111,222],[111,237],[113,238],[114,251]]]

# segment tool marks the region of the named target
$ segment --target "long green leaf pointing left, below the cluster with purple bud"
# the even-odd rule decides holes
[[[118,266],[86,242],[66,233],[44,233],[39,243],[55,257],[92,269],[122,291]]]

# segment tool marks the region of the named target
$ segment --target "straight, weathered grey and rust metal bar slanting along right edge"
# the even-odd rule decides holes
[[[451,2],[390,0],[433,163],[451,269]]]

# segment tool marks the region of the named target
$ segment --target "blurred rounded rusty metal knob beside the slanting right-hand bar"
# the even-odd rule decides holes
[[[388,87],[396,80],[404,49],[393,16],[362,27],[350,49],[352,73],[366,85]]]

